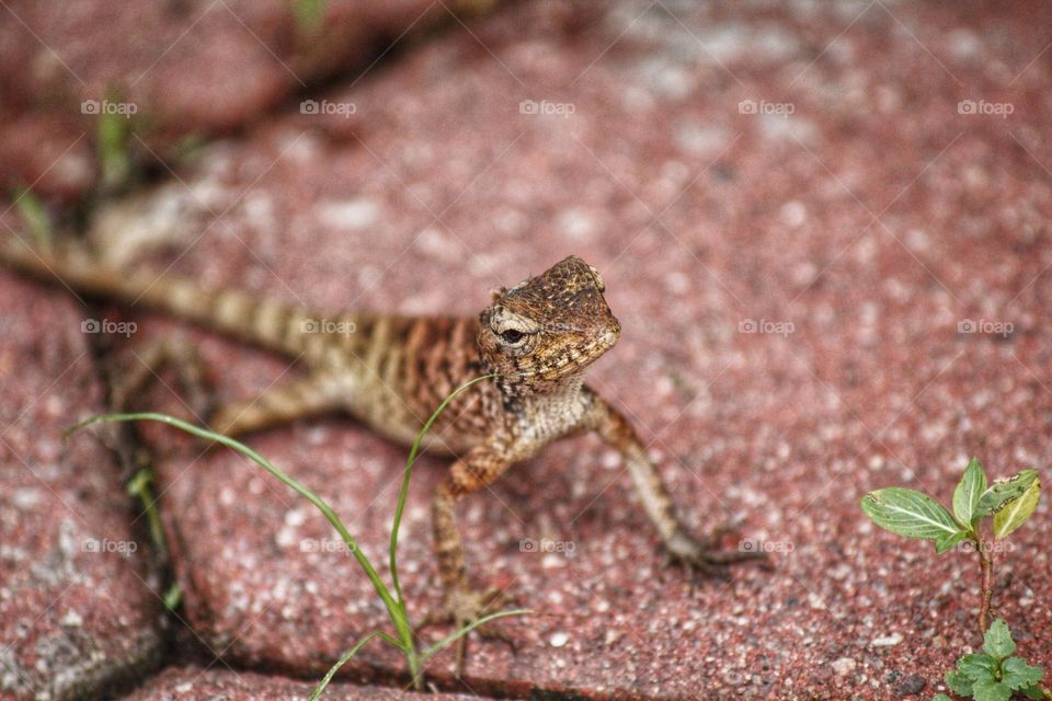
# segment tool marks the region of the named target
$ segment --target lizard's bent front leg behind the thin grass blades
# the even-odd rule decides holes
[[[442,613],[428,622],[449,621],[460,629],[483,616],[503,598],[499,590],[476,590],[468,581],[464,545],[457,528],[456,505],[468,494],[481,490],[507,470],[516,456],[511,439],[491,437],[456,460],[435,491],[432,503],[434,552],[442,578],[444,600]],[[482,635],[507,639],[494,630],[477,629]],[[464,673],[467,637],[457,643],[457,676]]]

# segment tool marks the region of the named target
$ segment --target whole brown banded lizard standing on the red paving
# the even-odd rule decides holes
[[[718,550],[722,527],[705,538],[693,536],[631,423],[585,383],[585,370],[617,343],[621,326],[599,272],[580,257],[493,291],[477,317],[325,317],[245,290],[108,268],[79,246],[58,252],[11,243],[0,245],[0,262],[297,358],[307,370],[302,377],[255,400],[216,407],[209,423],[228,436],[342,410],[382,436],[411,444],[421,417],[454,389],[492,375],[457,397],[423,443],[453,456],[432,499],[433,552],[444,596],[428,621],[460,628],[501,598],[493,589],[471,587],[457,504],[548,444],[586,432],[620,455],[668,559],[723,577],[735,563],[764,559],[754,551]],[[478,632],[504,637],[484,628]],[[465,641],[457,650],[458,674]]]

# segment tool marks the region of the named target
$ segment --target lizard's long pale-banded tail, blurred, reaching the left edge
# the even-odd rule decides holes
[[[239,289],[210,289],[176,276],[117,271],[80,249],[54,252],[0,244],[0,263],[79,295],[149,308],[263,347],[298,356],[320,341],[320,320],[307,310]],[[350,320],[353,318],[348,318]]]

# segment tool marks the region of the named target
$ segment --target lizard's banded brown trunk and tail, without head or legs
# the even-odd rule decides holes
[[[474,317],[327,314],[248,290],[108,268],[79,249],[0,245],[0,261],[45,280],[57,278],[82,295],[160,311],[296,358],[317,378],[315,391],[338,395],[354,417],[404,444],[415,439],[443,399],[485,372]],[[424,447],[470,448],[488,433],[499,405],[492,382],[476,384],[439,416]]]

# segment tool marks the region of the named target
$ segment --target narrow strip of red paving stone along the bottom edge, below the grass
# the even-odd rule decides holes
[[[125,697],[125,701],[306,701],[311,691],[313,685],[285,677],[230,669],[172,667],[149,680],[135,693]],[[322,698],[330,701],[404,701],[421,697],[399,689],[332,683],[325,688]],[[450,693],[432,694],[427,698],[436,701],[481,699],[473,694]]]

